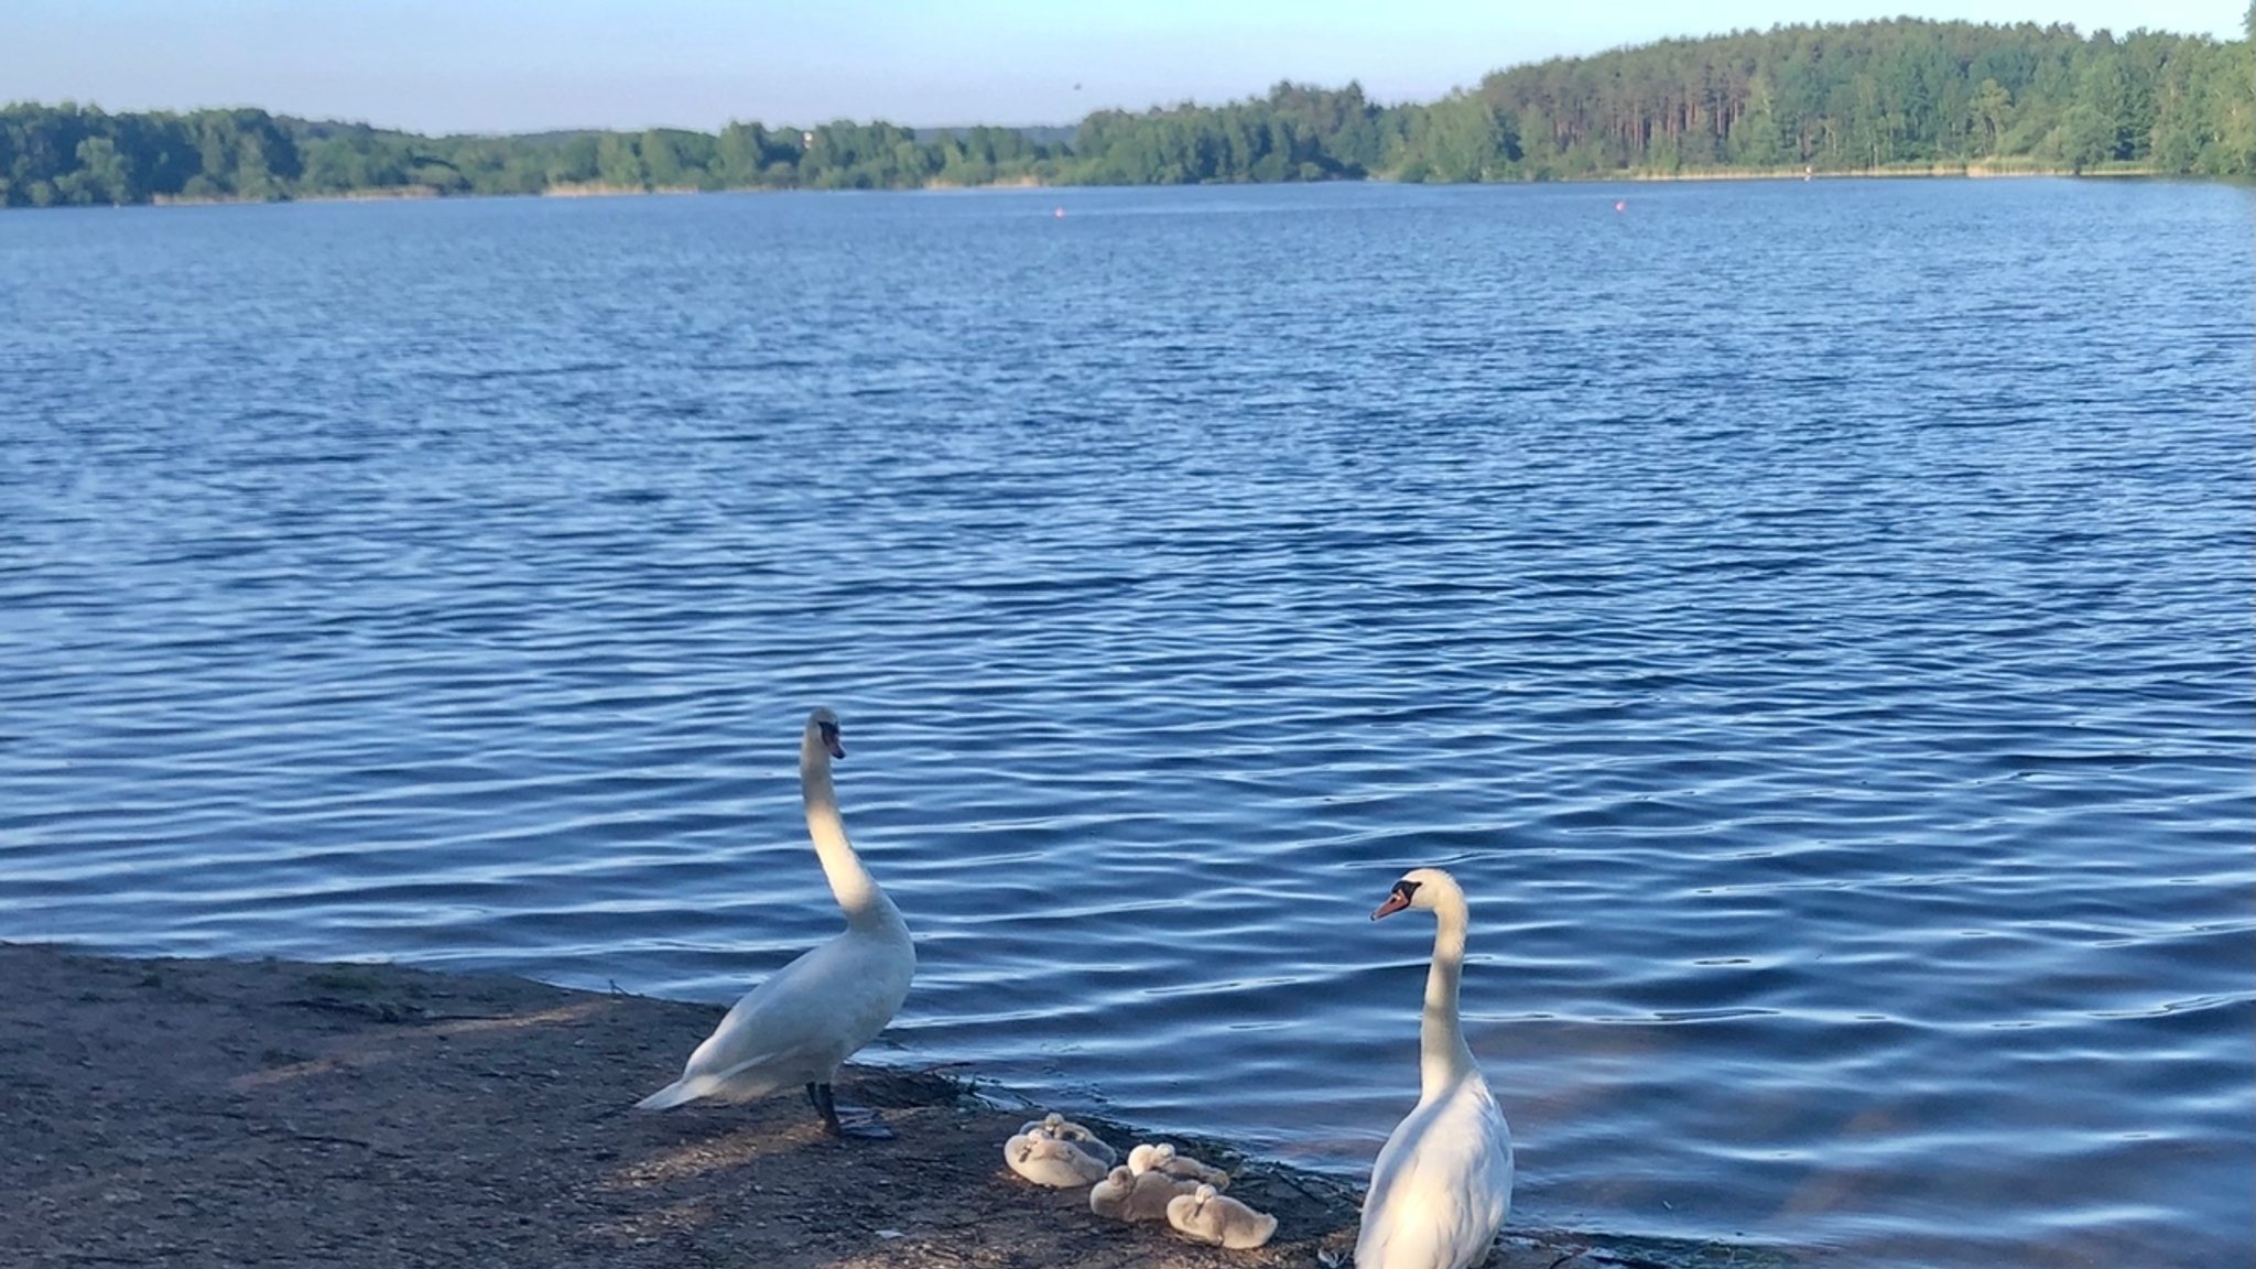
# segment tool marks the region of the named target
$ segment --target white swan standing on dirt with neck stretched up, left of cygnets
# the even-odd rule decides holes
[[[846,933],[801,953],[747,991],[690,1054],[681,1079],[636,1106],[663,1111],[699,1097],[751,1102],[805,1084],[823,1131],[893,1136],[873,1115],[853,1109],[848,1113],[855,1118],[841,1122],[830,1093],[839,1064],[893,1021],[916,973],[909,926],[846,840],[837,795],[830,790],[830,759],[844,756],[837,714],[810,714],[799,745],[799,784],[808,804],[808,835],[823,860],[830,894],[846,910]]]

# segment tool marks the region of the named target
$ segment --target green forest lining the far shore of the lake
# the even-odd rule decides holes
[[[889,122],[415,135],[257,108],[0,108],[0,205],[627,190],[1575,181],[1857,172],[2256,176],[2247,36],[1884,20],[1498,70],[1424,104],[1279,84],[1074,129]]]

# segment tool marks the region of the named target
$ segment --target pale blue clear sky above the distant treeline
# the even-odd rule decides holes
[[[1069,124],[1279,79],[1426,102],[1667,36],[1909,14],[2238,38],[2247,0],[0,0],[0,102],[422,133]]]

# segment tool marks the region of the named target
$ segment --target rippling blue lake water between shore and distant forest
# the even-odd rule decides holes
[[[2251,242],[2096,181],[0,215],[0,937],[731,1000],[837,926],[830,704],[882,1061],[1358,1179],[1433,935],[1365,917],[1446,865],[1514,1224],[2238,1264]]]

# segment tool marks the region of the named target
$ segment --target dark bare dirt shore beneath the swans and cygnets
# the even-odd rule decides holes
[[[1356,1194],[1198,1152],[1279,1217],[1259,1251],[1090,1215],[1013,1176],[999,1109],[855,1068],[898,1140],[801,1097],[632,1111],[720,1012],[388,964],[113,960],[0,944],[0,1264],[1144,1267],[1345,1264]],[[1099,1127],[1092,1122],[1092,1127]],[[1148,1140],[1101,1124],[1126,1152]],[[1514,1231],[1491,1269],[1654,1264]]]

